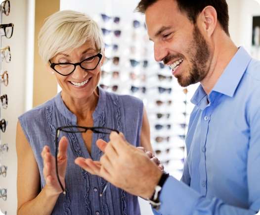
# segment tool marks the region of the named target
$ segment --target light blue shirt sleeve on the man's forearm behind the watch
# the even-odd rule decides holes
[[[220,199],[206,199],[174,177],[165,182],[160,195],[162,215],[255,215],[254,210],[230,206]],[[158,215],[158,214],[155,214]]]

